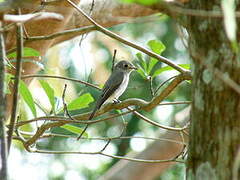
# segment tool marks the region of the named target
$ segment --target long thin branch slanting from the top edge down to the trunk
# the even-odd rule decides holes
[[[78,12],[80,12],[85,18],[87,18],[92,24],[94,24],[97,28],[98,31],[106,34],[107,36],[113,38],[113,39],[116,39],[128,46],[131,46],[135,49],[138,49],[139,51],[151,56],[151,57],[154,57],[156,58],[158,61],[160,62],[163,62],[171,67],[173,67],[174,69],[176,69],[177,71],[181,72],[181,73],[187,73],[189,72],[188,70],[182,68],[181,66],[175,64],[172,60],[169,60],[163,56],[160,56],[159,54],[157,53],[154,53],[144,47],[141,47],[133,42],[130,42],[129,40],[126,40],[124,38],[122,38],[121,36],[107,30],[106,28],[104,28],[103,26],[101,26],[100,24],[96,23],[91,17],[89,17],[85,12],[82,11],[82,9],[80,7],[78,7],[75,3],[73,3],[71,0],[66,0],[69,4],[71,4]]]

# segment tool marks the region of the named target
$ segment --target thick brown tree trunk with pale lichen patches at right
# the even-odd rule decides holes
[[[190,8],[220,10],[220,2],[195,0],[190,2]],[[233,179],[240,148],[240,95],[217,78],[215,72],[218,70],[239,84],[239,55],[231,48],[223,18],[192,16],[187,29],[193,60],[187,177]]]

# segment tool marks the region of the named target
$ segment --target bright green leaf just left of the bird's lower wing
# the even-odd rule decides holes
[[[67,105],[67,109],[71,111],[71,110],[86,108],[93,101],[94,99],[92,95],[90,93],[86,93],[81,95],[77,99],[74,99],[72,102],[70,102]]]

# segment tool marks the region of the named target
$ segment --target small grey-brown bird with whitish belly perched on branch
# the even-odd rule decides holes
[[[105,102],[118,99],[123,94],[128,85],[129,75],[133,70],[137,70],[137,68],[127,61],[120,61],[115,65],[111,76],[103,86],[102,93],[97,100],[92,114],[89,116],[89,120],[93,118],[96,111]]]

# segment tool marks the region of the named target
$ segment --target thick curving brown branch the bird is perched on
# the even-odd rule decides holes
[[[166,89],[164,89],[158,96],[154,97],[152,101],[146,102],[146,101],[141,100],[141,99],[134,99],[133,98],[133,99],[125,100],[125,101],[123,101],[121,103],[118,103],[118,104],[107,104],[104,107],[102,107],[99,111],[97,111],[96,116],[99,116],[101,114],[109,112],[112,109],[123,109],[123,108],[128,108],[129,106],[133,106],[133,105],[139,106],[138,109],[146,109],[146,110],[152,109],[152,108],[158,106],[159,103],[160,103],[160,100],[162,101],[164,99],[164,97],[166,98],[170,94],[170,92],[173,91],[174,88],[177,87],[177,85],[179,83],[181,83],[182,81],[184,81],[186,79],[189,80],[190,78],[191,77],[189,77],[188,74],[180,74],[176,77],[176,80],[173,80],[169,84],[169,86]],[[159,103],[157,104],[157,102],[159,102]],[[150,106],[150,108],[148,108],[148,106]],[[130,109],[129,111],[124,112],[120,115],[124,115],[124,114],[130,113],[130,112],[134,112],[136,115],[140,116],[146,122],[148,122],[148,123],[150,123],[154,126],[160,127],[160,128],[164,128],[164,129],[172,130],[172,131],[183,131],[184,129],[186,129],[186,127],[172,128],[172,127],[163,126],[161,124],[158,124],[158,123],[156,123],[154,121],[151,121],[150,119],[144,117],[140,113],[136,112],[136,110],[137,109]],[[39,120],[53,121],[53,122],[50,122],[50,123],[47,123],[47,124],[43,124],[41,127],[38,128],[35,135],[32,136],[28,141],[26,141],[25,148],[29,149],[29,146],[34,144],[45,133],[45,131],[50,129],[50,128],[59,127],[59,126],[62,126],[64,124],[67,124],[67,123],[93,124],[93,123],[98,123],[98,122],[101,122],[101,121],[110,120],[110,119],[113,119],[113,118],[119,116],[119,114],[117,114],[117,115],[107,117],[105,119],[87,121],[88,118],[89,118],[89,115],[90,115],[90,113],[84,113],[84,114],[81,114],[81,115],[76,115],[76,116],[72,117],[74,120],[72,120],[70,118],[66,118],[66,117],[53,117],[53,116],[39,117],[39,118],[35,118],[35,119],[29,120],[29,121],[19,122],[19,123],[17,123],[16,127],[18,128],[19,126],[22,126],[24,124],[39,121]]]

